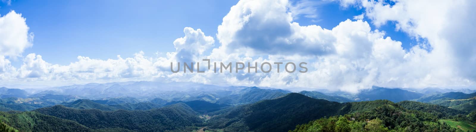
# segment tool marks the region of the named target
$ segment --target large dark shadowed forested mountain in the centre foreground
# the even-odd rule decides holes
[[[298,93],[217,111],[207,125],[226,132],[286,132],[297,124],[347,113],[347,104],[314,99]]]

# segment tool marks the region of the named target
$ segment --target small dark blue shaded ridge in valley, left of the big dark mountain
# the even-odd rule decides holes
[[[194,111],[201,114],[218,111],[230,106],[230,105],[214,104],[214,103],[201,101],[201,100],[194,100],[194,101],[187,101],[187,102],[176,101],[176,102],[167,103],[165,105],[168,106],[168,105],[177,104],[177,103],[184,103],[187,106],[190,106]]]

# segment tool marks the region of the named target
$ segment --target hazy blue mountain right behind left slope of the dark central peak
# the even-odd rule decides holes
[[[265,99],[282,97],[290,91],[281,89],[261,89],[258,87],[248,87],[233,91],[229,96],[219,98],[215,103],[226,105],[251,104]]]

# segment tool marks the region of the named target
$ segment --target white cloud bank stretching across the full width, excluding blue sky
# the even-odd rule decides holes
[[[382,87],[472,87],[476,81],[476,45],[471,0],[384,1],[336,0],[364,14],[332,29],[301,26],[299,16],[312,18],[309,7],[287,0],[240,0],[213,36],[184,28],[167,57],[99,60],[79,56],[69,65],[50,64],[40,55],[23,57],[20,68],[8,58],[31,47],[25,18],[14,11],[0,18],[0,83],[91,82],[127,80],[193,81],[207,84],[276,88],[328,88],[357,92]],[[431,6],[427,3],[434,3]],[[309,11],[311,10],[311,11]],[[314,16],[315,17],[315,16]],[[362,19],[368,19],[364,21]],[[403,49],[402,43],[372,29],[389,22],[422,43]],[[14,34],[11,34],[14,33]],[[213,45],[217,48],[211,49]],[[211,51],[207,53],[207,51]],[[170,62],[307,62],[307,73],[173,73]],[[206,66],[200,65],[200,68]],[[259,67],[258,67],[259,69]],[[274,69],[275,70],[275,69]],[[281,69],[283,70],[283,69]]]

